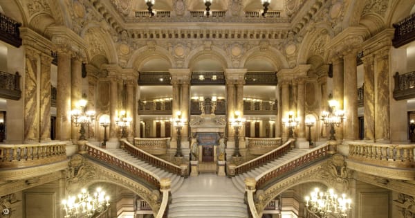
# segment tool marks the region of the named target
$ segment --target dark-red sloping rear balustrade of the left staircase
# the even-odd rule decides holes
[[[142,149],[131,145],[131,143],[129,143],[126,139],[122,139],[120,142],[124,143],[124,149],[127,150],[127,152],[140,158],[142,161],[146,161],[147,163],[159,167],[162,170],[166,170],[167,172],[171,172],[179,176],[184,176],[185,172],[182,172],[181,167],[178,165],[174,165],[173,163],[169,163],[162,158],[158,158],[157,156],[149,154],[148,152],[145,152]]]

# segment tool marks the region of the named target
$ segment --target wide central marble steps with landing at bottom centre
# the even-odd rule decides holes
[[[199,174],[186,179],[172,192],[168,217],[248,217],[243,194],[232,181],[216,174]]]

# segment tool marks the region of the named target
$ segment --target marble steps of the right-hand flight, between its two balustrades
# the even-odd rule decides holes
[[[303,154],[306,154],[306,152],[308,152],[310,149],[299,149],[299,148],[294,148],[291,149],[290,152],[288,152],[287,154],[285,154],[284,156],[280,156],[279,158],[270,161],[264,165],[261,165],[260,167],[257,167],[253,170],[250,170],[248,172],[245,172],[243,174],[239,174],[236,175],[234,177],[232,177],[232,181],[235,185],[235,187],[237,187],[237,189],[240,192],[245,192],[245,183],[243,182],[246,178],[248,177],[253,177],[256,178],[257,176],[259,176],[259,174],[262,174],[263,172],[266,172],[267,170],[273,169],[279,165],[282,165],[284,163],[288,163],[292,160],[294,160],[295,158],[298,158],[299,156],[302,156]]]

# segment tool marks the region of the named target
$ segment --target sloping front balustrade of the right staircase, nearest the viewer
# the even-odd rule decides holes
[[[266,170],[265,172],[262,172],[257,177],[255,177],[255,180],[257,181],[257,190],[262,189],[262,186],[266,185],[266,183],[268,183],[270,180],[275,179],[286,172],[290,172],[291,170],[294,170],[297,167],[302,167],[308,163],[311,163],[312,161],[317,160],[318,158],[328,155],[329,148],[330,144],[326,143],[324,145],[321,145],[320,147],[315,147],[311,149],[306,154],[299,156],[298,158],[295,158],[294,160],[289,161],[284,165],[280,165],[277,168],[273,168],[270,170]]]

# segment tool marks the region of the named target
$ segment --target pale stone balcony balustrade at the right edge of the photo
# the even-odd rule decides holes
[[[351,142],[349,145],[349,159],[367,161],[389,167],[415,167],[415,145],[398,144],[371,144]]]

